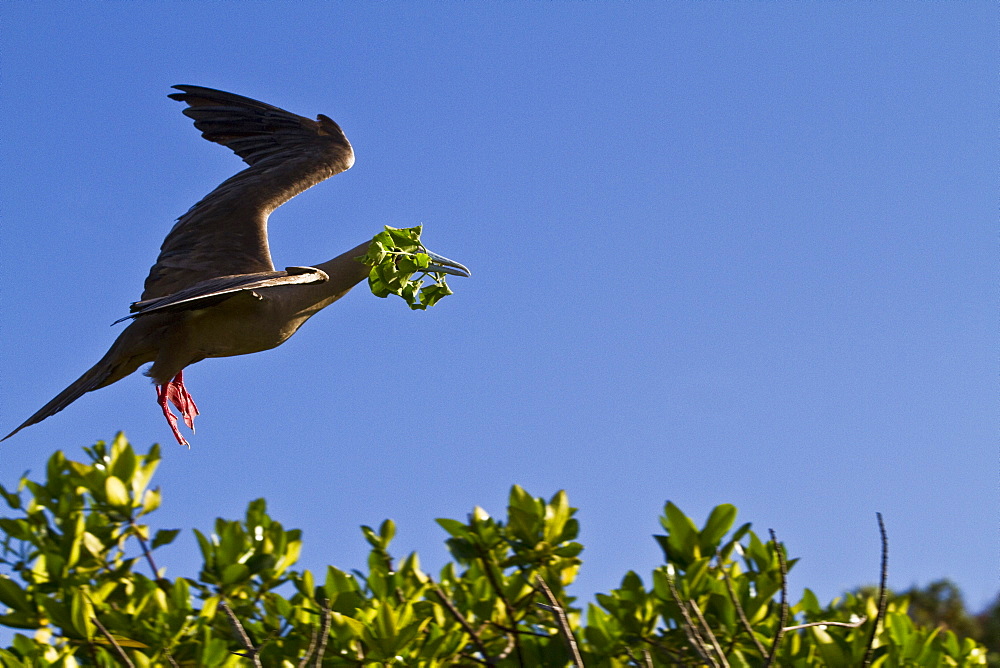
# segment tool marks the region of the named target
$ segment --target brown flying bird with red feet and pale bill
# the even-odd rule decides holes
[[[184,386],[184,369],[207,357],[269,350],[306,320],[364,280],[359,262],[371,240],[311,267],[276,271],[267,244],[267,219],[307,188],[354,164],[354,150],[340,126],[320,114],[304,118],[278,107],[201,86],[174,86],[208,141],[230,148],[249,167],[222,182],[177,219],[149,271],[131,324],[107,354],[21,426],[66,408],[86,392],[105,387],[152,362],[145,372],[174,437],[188,445],[173,404],[194,429],[198,415]],[[439,255],[430,270],[469,276]],[[120,321],[119,321],[120,322]]]

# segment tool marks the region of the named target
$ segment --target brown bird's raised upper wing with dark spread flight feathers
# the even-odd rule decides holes
[[[267,217],[303,190],[349,169],[354,151],[320,114],[311,120],[247,97],[174,86],[202,136],[228,146],[247,169],[181,216],[160,247],[142,300],[164,297],[220,276],[273,271]]]

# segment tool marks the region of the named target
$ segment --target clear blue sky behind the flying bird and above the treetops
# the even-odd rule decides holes
[[[426,313],[360,286],[276,350],[191,367],[189,452],[136,374],[0,446],[0,479],[124,430],[159,527],[268,499],[303,565],[357,527],[566,489],[589,598],[719,503],[829,600],[997,591],[998,9],[967,3],[0,6],[12,429],[104,353],[172,221],[242,163],[172,84],[324,113],[357,164],[279,209],[279,266],[425,225],[472,268]],[[391,408],[386,408],[391,404]],[[194,575],[190,532],[163,550]]]

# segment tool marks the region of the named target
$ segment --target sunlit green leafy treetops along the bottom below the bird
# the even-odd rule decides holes
[[[578,652],[593,668],[846,667],[864,664],[877,614],[873,594],[824,607],[806,590],[775,646],[794,560],[749,524],[734,530],[731,505],[699,527],[671,503],[663,565],[645,581],[627,573],[584,612],[568,592],[583,550],[576,509],[564,492],[517,486],[505,519],[475,508],[438,520],[452,560],[436,577],[416,554],[393,556],[391,520],[362,527],[365,571],[295,570],[301,533],[258,499],[242,520],[195,531],[201,572],[172,580],[155,555],[177,531],[145,523],[160,502],[158,448],[139,456],[119,435],[85,451],[86,462],[55,453],[44,482],[0,486],[0,624],[19,630],[3,666],[545,667]],[[907,605],[889,604],[872,666],[985,665],[983,647],[914,624]]]

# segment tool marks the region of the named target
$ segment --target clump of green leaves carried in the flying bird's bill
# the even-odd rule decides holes
[[[424,310],[453,294],[444,274],[427,270],[431,258],[420,241],[422,230],[422,225],[404,229],[386,225],[385,231],[372,239],[361,261],[372,268],[368,287],[376,297],[399,295],[411,309]],[[420,275],[414,279],[418,272]],[[425,276],[434,282],[425,286]]]

